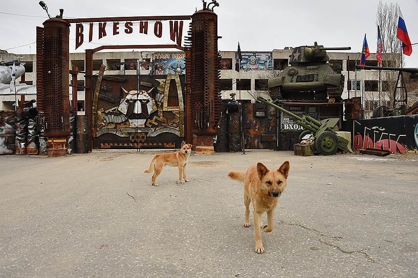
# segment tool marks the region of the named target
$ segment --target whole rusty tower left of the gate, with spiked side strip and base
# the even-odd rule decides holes
[[[49,156],[65,156],[70,134],[69,35],[70,24],[61,18],[36,28],[37,108],[45,115]]]

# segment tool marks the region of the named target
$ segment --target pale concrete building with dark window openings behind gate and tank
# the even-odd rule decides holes
[[[252,100],[253,96],[268,97],[266,88],[267,79],[277,76],[283,67],[289,66],[289,56],[292,48],[285,48],[283,50],[273,50],[271,52],[273,69],[271,70],[242,70],[238,73],[235,71],[235,51],[221,51],[223,59],[230,63],[229,69],[221,70],[221,87],[222,98],[229,99],[230,94],[234,92],[236,99]],[[93,55],[93,74],[97,74],[101,64],[106,65],[107,75],[135,75],[137,74],[137,61],[151,61],[152,53],[156,52],[98,52]],[[379,105],[391,106],[388,96],[390,86],[387,85],[387,75],[382,72],[381,82],[379,83],[378,71],[357,71],[357,86],[355,82],[355,60],[359,59],[359,53],[353,52],[328,52],[329,62],[340,64],[341,74],[345,76],[345,85],[342,98],[363,97],[363,108],[365,116],[370,117],[373,109]],[[390,54],[386,54],[390,55]],[[398,55],[399,54],[392,54]],[[7,60],[11,54],[0,53],[0,61]],[[25,62],[26,73],[24,76],[17,79],[20,83],[28,85],[36,85],[36,55],[17,55],[23,57],[21,62]],[[84,71],[85,67],[84,53],[70,54],[70,69],[77,66],[79,71]],[[358,60],[359,63],[359,60]],[[126,66],[129,64],[130,66]],[[132,65],[137,66],[132,66]],[[146,64],[146,63],[145,63]],[[376,53],[371,53],[366,60],[366,65],[377,65]],[[149,74],[149,70],[139,65],[140,73]],[[349,75],[349,80],[348,80]],[[71,80],[71,77],[70,77]],[[392,77],[391,79],[392,80]],[[84,74],[78,74],[78,85],[84,86]],[[238,88],[241,87],[241,90]],[[356,92],[357,87],[357,92]],[[379,98],[379,91],[381,96]],[[1,94],[1,92],[0,92]],[[36,96],[28,96],[28,99],[33,99]],[[70,99],[72,98],[72,89],[70,89]],[[84,90],[78,89],[78,107],[79,113],[84,111]],[[15,101],[14,96],[0,95],[0,110],[12,110]]]

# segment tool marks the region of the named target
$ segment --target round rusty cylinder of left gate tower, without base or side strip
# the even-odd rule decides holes
[[[59,18],[51,18],[43,22],[43,26],[43,92],[41,94],[46,116],[45,135],[62,138],[70,133],[70,25]]]

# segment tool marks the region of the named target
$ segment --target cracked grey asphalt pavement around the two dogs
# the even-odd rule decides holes
[[[192,155],[190,182],[155,151],[65,158],[0,156],[0,276],[415,276],[414,160],[248,151]],[[226,177],[262,161],[291,165],[275,229],[254,252],[252,207]],[[331,183],[331,184],[328,184]],[[267,223],[266,216],[263,222]]]

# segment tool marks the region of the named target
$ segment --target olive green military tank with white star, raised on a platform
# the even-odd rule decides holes
[[[293,49],[290,66],[278,77],[268,81],[270,97],[274,100],[342,100],[344,76],[340,64],[329,64],[327,50],[350,50],[350,47],[324,48],[315,41],[312,46]]]

